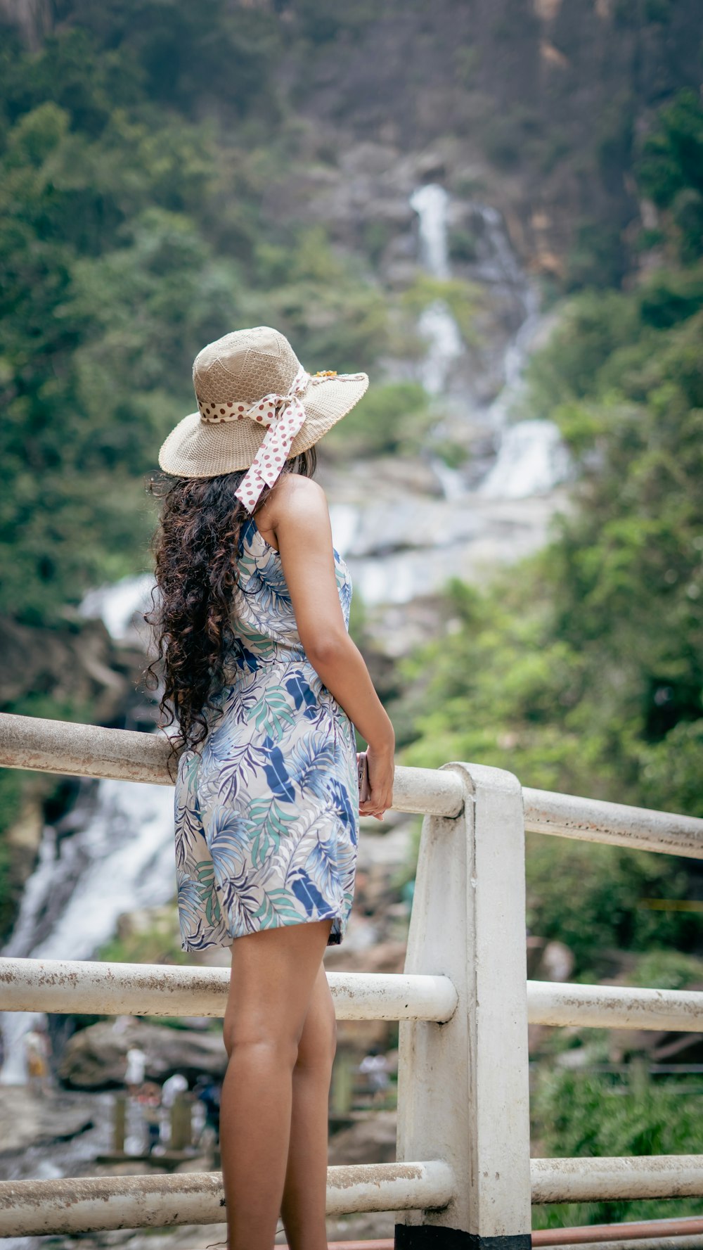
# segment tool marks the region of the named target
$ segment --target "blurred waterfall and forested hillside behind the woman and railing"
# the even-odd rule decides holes
[[[703,815],[698,0],[0,19],[2,710],[154,729],[146,485],[200,348],[270,324],[371,375],[318,478],[398,762]],[[0,770],[4,954],[185,961],[171,801]],[[365,822],[331,969],[402,969],[418,836]],[[697,861],[529,835],[527,889],[531,976],[703,988]],[[221,1039],[171,1024],[1,1018],[2,1175],[216,1166]],[[332,1162],[393,1158],[396,1044],[340,1026]],[[536,1154],[703,1151],[699,1035],[533,1028],[531,1068]]]

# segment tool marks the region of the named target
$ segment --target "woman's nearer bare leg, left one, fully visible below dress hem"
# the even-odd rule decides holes
[[[271,1250],[283,1196],[292,1072],[331,921],[232,945],[220,1146],[229,1250]]]

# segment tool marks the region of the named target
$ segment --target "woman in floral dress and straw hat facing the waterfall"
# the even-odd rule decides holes
[[[311,378],[258,326],[196,358],[161,448],[162,710],[179,724],[182,948],[230,946],[221,1154],[229,1250],[326,1250],[335,1011],[322,966],[352,904],[358,815],[391,806],[395,735],[348,636],[315,444],[365,374]],[[246,472],[243,471],[246,470]],[[368,744],[358,802],[353,726]]]

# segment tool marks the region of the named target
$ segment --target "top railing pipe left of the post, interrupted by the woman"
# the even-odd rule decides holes
[[[172,785],[169,752],[165,734],[135,734],[127,729],[0,715],[2,768]],[[462,805],[461,778],[455,772],[405,766],[396,769],[396,811],[458,816]]]

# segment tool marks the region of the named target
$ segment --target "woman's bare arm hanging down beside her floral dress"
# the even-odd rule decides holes
[[[266,512],[307,659],[368,744],[371,798],[360,812],[381,816],[392,802],[396,736],[345,625],[325,491],[310,478],[286,474]]]

